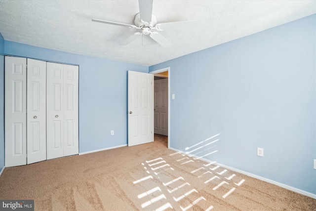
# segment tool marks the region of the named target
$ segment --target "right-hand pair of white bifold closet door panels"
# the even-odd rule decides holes
[[[79,153],[79,67],[47,62],[47,159]]]

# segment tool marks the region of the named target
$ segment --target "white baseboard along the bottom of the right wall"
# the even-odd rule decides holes
[[[207,163],[212,163],[212,162],[213,162],[213,161],[207,160],[207,159],[205,159],[205,158],[199,158],[199,157],[197,157],[197,156],[195,156],[195,155],[187,154],[187,153],[185,153],[185,152],[182,152],[182,151],[180,151],[180,150],[177,150],[177,149],[174,149],[174,148],[171,148],[171,147],[170,147],[169,149],[174,150],[174,151],[176,151],[176,152],[180,152],[180,153],[182,153],[182,154],[184,154],[184,155],[188,155],[188,156],[193,157],[193,158],[198,158],[199,160],[205,161],[205,162],[207,162]],[[253,177],[253,178],[256,178],[256,179],[260,179],[260,180],[262,180],[262,181],[269,182],[269,183],[271,183],[271,184],[280,186],[280,187],[282,187],[282,188],[285,188],[285,189],[294,191],[294,192],[296,192],[296,193],[300,193],[300,194],[302,194],[302,195],[305,195],[305,196],[311,197],[311,198],[313,198],[313,199],[316,199],[316,194],[309,193],[309,192],[303,191],[303,190],[301,190],[301,189],[294,188],[294,187],[292,187],[292,186],[285,185],[285,184],[276,182],[276,181],[274,181],[274,180],[267,179],[267,178],[262,177],[262,176],[258,176],[258,175],[256,175],[256,174],[252,174],[252,173],[249,173],[249,172],[247,172],[247,171],[243,171],[243,170],[235,169],[235,168],[233,168],[233,167],[225,166],[225,165],[219,164],[219,163],[217,163],[217,162],[216,162],[216,164],[217,164],[218,166],[220,166],[220,167],[225,168],[225,169],[230,169],[230,170],[236,171],[236,172],[238,172],[238,173],[242,173],[242,174],[245,174],[245,175],[247,175],[247,176],[250,176],[250,177]]]

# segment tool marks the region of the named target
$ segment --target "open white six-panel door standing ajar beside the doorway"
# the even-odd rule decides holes
[[[128,71],[128,146],[154,141],[154,75]]]

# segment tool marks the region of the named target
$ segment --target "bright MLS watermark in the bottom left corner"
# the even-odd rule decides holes
[[[34,200],[0,200],[0,211],[34,211]]]

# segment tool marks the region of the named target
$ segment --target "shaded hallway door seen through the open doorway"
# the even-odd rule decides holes
[[[155,133],[168,135],[168,79],[155,80]]]

